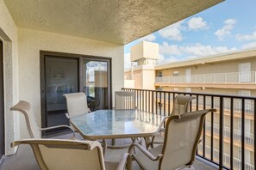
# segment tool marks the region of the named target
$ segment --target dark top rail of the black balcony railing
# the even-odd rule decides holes
[[[244,99],[244,100],[256,100],[256,97],[253,96],[240,96],[240,95],[227,95],[227,94],[203,94],[203,93],[191,93],[191,92],[178,92],[178,91],[163,91],[163,90],[150,90],[150,89],[140,89],[140,88],[122,88],[122,90],[140,90],[140,91],[150,91],[157,93],[171,93],[171,94],[190,94],[190,95],[205,95],[213,97],[222,97],[222,98],[234,98],[234,99]]]

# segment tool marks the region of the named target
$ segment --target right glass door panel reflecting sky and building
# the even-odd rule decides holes
[[[91,111],[110,108],[109,60],[84,59],[83,86]]]

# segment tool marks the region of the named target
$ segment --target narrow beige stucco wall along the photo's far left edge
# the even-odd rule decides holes
[[[14,154],[10,143],[19,138],[19,116],[9,111],[18,100],[18,47],[16,24],[0,0],[0,39],[3,40],[5,155]]]

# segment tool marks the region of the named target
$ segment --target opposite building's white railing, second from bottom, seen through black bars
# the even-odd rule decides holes
[[[211,130],[211,123],[210,122],[206,122],[205,123],[205,130],[206,131],[210,131]],[[219,124],[214,124],[214,133],[215,134],[219,134],[220,133],[220,125]],[[223,127],[223,135],[224,137],[228,137],[230,138],[230,128],[227,126]],[[254,134],[253,133],[248,133],[245,132],[245,143],[248,144],[254,144]],[[233,130],[233,137],[234,140],[236,141],[241,141],[241,131],[239,130]]]

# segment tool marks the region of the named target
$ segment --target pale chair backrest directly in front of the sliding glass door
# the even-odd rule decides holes
[[[91,112],[87,105],[87,97],[83,92],[63,95],[66,97],[66,107],[70,118]]]

